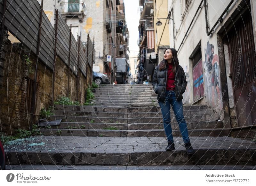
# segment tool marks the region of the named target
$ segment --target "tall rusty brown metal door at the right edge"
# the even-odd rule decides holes
[[[256,52],[252,16],[247,12],[226,38],[239,127],[256,124]]]

